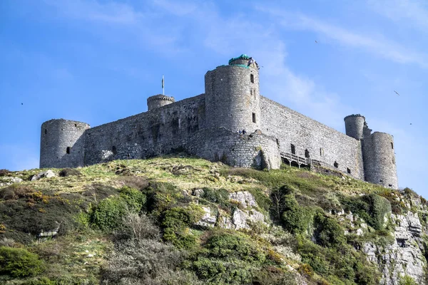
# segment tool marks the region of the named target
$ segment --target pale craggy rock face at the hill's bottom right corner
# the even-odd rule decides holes
[[[399,276],[409,275],[419,281],[424,274],[425,259],[420,240],[422,225],[417,214],[408,212],[406,215],[391,214],[396,224],[394,243],[386,247],[377,247],[372,243],[364,244],[363,251],[367,259],[379,264],[382,271],[381,284],[397,285]]]

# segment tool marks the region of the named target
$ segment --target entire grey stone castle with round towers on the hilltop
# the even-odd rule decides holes
[[[372,133],[362,115],[345,118],[345,135],[261,96],[258,63],[245,54],[208,71],[205,93],[178,102],[154,95],[147,104],[145,113],[95,128],[73,120],[46,121],[40,167],[185,151],[236,167],[322,166],[398,188],[392,135]]]

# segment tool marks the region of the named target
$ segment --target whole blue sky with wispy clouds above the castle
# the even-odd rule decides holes
[[[3,0],[0,168],[39,166],[46,120],[141,113],[163,74],[165,94],[198,95],[206,71],[247,53],[262,95],[394,135],[399,186],[428,197],[427,46],[427,1]]]

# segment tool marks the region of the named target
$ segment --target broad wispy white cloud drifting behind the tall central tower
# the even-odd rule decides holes
[[[170,3],[172,2],[168,0],[161,1],[162,6],[171,7]],[[263,95],[304,111],[306,115],[333,128],[342,129],[342,118],[348,115],[350,108],[342,105],[338,96],[326,91],[320,83],[296,74],[287,66],[286,43],[274,26],[254,21],[244,14],[224,16],[210,4],[193,5],[185,9],[192,10],[190,14],[177,14],[175,9],[169,13],[193,21],[195,29],[203,31],[200,34],[205,48],[223,59],[224,56],[240,53],[251,54],[263,66],[260,69],[260,89]]]

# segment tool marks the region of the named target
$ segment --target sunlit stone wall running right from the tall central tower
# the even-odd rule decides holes
[[[281,152],[291,153],[295,145],[296,155],[305,157],[307,150],[310,158],[332,166],[336,162],[337,170],[348,173],[349,169],[352,177],[364,180],[359,140],[263,96],[260,108],[262,131],[278,139]]]

